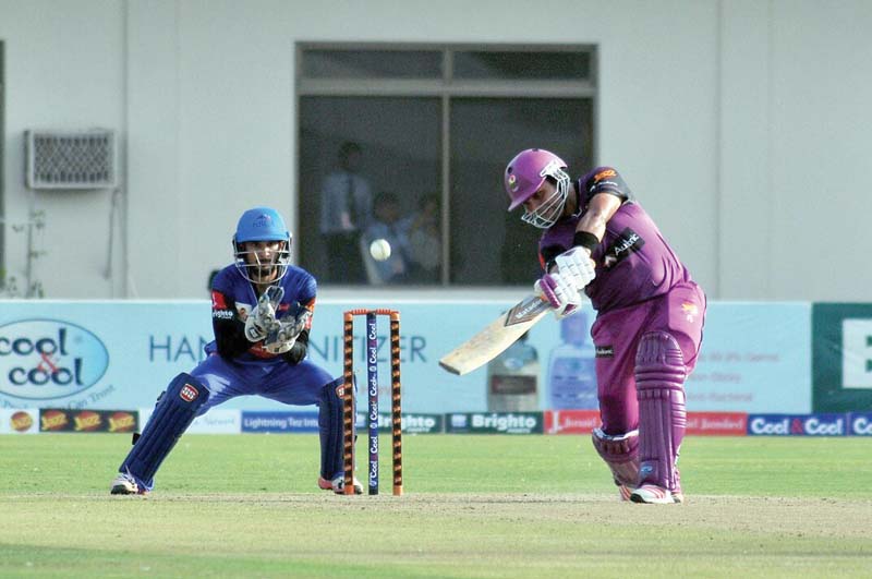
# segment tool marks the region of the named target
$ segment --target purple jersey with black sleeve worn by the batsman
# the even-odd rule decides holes
[[[594,195],[620,197],[623,203],[591,254],[596,262],[596,278],[584,291],[597,312],[638,304],[690,281],[690,273],[615,169],[598,167],[579,179],[574,189],[579,210],[542,234],[540,258],[547,270],[557,255],[572,248],[576,226]]]

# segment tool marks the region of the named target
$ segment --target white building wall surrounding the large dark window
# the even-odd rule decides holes
[[[296,220],[294,43],[594,43],[598,160],[710,298],[867,300],[869,29],[864,0],[0,0],[7,218],[46,212],[49,297],[204,297],[244,208]],[[126,143],[108,278],[111,194],[23,186],[24,130],[92,125]]]

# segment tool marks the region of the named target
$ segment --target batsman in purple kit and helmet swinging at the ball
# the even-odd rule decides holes
[[[685,381],[697,363],[705,294],[611,167],[577,180],[545,149],[522,150],[506,167],[509,210],[544,229],[544,275],[534,290],[558,318],[596,310],[591,336],[602,426],[593,446],[620,497],[682,503],[678,455],[685,436]]]

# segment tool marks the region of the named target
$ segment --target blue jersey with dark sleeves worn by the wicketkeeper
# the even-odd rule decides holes
[[[284,295],[276,309],[276,317],[296,315],[300,309],[314,313],[317,284],[305,269],[288,266],[284,277],[279,281]],[[235,265],[221,269],[211,285],[211,317],[215,340],[206,346],[206,353],[219,353],[234,362],[277,362],[287,354],[275,354],[264,349],[264,342],[251,342],[244,335],[245,319],[257,305],[254,286],[245,279]],[[298,338],[298,342],[308,342],[312,318]]]

